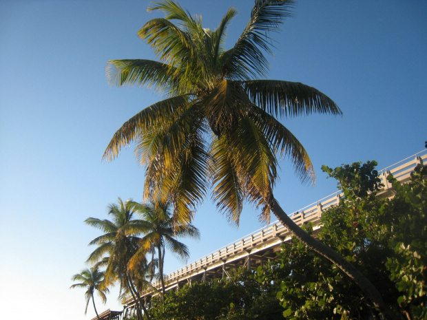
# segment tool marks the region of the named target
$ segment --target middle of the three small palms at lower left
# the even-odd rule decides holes
[[[105,286],[119,281],[121,292],[129,290],[136,304],[139,303],[140,308],[143,308],[147,318],[150,319],[134,285],[135,275],[129,268],[129,260],[138,251],[140,240],[138,235],[142,232],[141,221],[134,219],[134,209],[132,209],[131,203],[132,200],[123,202],[121,198],[118,198],[118,204],[110,204],[108,214],[112,215],[112,221],[94,217],[85,220],[86,224],[104,232],[103,235],[90,242],[90,245],[98,247],[90,254],[87,262],[104,265],[106,267]],[[139,308],[136,310],[138,319],[143,319]]]

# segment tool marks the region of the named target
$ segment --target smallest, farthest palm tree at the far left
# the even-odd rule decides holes
[[[96,317],[99,319],[98,311],[96,311],[95,300],[94,300],[94,292],[98,292],[99,297],[105,301],[107,301],[106,293],[109,292],[107,288],[101,286],[104,273],[101,270],[98,270],[97,267],[81,270],[81,273],[76,273],[72,276],[72,281],[81,281],[79,284],[73,284],[70,288],[85,288],[85,298],[86,298],[86,308],[85,314],[87,312],[87,306],[89,306],[89,301],[92,299],[92,303],[94,303],[94,309],[96,313]]]

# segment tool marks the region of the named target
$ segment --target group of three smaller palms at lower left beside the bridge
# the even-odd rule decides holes
[[[165,294],[165,248],[178,257],[187,259],[189,250],[176,237],[197,239],[199,231],[191,224],[178,224],[173,228],[170,204],[140,204],[132,200],[123,202],[118,198],[116,204],[108,206],[107,213],[112,217],[111,220],[95,217],[85,220],[86,224],[98,228],[103,234],[90,242],[90,245],[96,246],[87,259],[92,268],[74,275],[74,281],[82,282],[74,284],[72,288],[87,288],[87,310],[90,298],[93,301],[94,290],[105,301],[107,288],[118,283],[121,297],[130,295],[136,301],[138,319],[142,320],[144,315],[150,319],[140,293],[147,288],[155,290],[152,280],[160,279],[162,297]],[[105,270],[101,271],[100,268]],[[96,315],[98,316],[97,312]]]

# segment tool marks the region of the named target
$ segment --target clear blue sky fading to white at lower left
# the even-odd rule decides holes
[[[214,29],[230,6],[240,14],[231,47],[253,1],[180,3]],[[160,100],[147,89],[110,87],[110,59],[154,58],[136,32],[147,1],[0,1],[0,307],[4,319],[91,319],[84,291],[70,278],[85,268],[99,232],[83,224],[106,206],[142,198],[144,171],[133,148],[101,160],[125,120]],[[317,183],[301,186],[280,162],[275,197],[289,213],[335,192],[320,167],[377,160],[379,169],[424,149],[427,140],[427,1],[301,0],[270,58],[268,78],[320,89],[342,117],[284,120],[306,147]],[[275,219],[272,219],[272,221]],[[189,262],[262,227],[247,207],[240,228],[227,224],[208,198],[196,214],[198,242]],[[165,272],[185,262],[166,255]],[[98,310],[121,310],[117,292]]]

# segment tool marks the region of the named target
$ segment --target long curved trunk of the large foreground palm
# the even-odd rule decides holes
[[[286,226],[295,237],[297,237],[301,242],[306,244],[309,248],[319,253],[326,259],[329,259],[335,266],[340,268],[348,277],[350,277],[360,290],[362,290],[365,297],[367,297],[379,310],[384,319],[401,319],[396,314],[394,314],[384,303],[382,295],[378,292],[377,288],[373,286],[371,281],[368,280],[353,264],[348,262],[342,255],[335,252],[329,246],[326,246],[319,240],[311,237],[306,233],[300,226],[295,224],[293,220],[283,211],[278,202],[272,197],[271,199],[264,199],[264,201],[269,205],[271,211],[278,218],[278,220]]]

